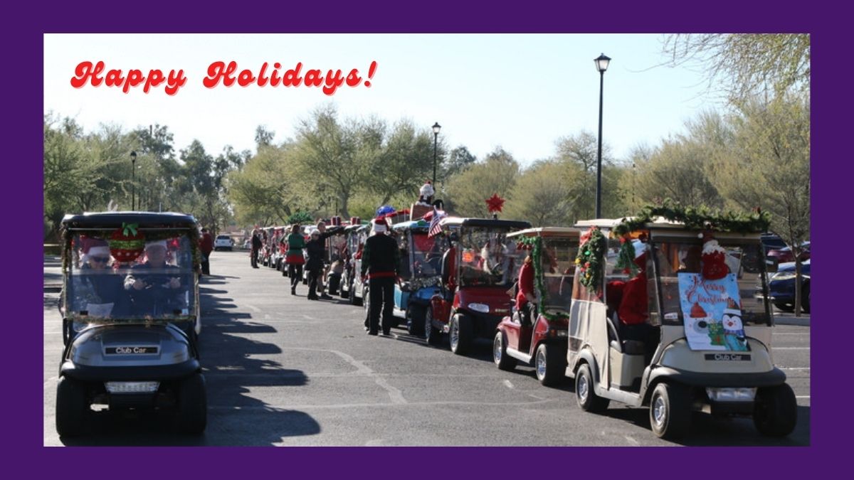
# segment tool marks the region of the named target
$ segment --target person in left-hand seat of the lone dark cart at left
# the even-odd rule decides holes
[[[80,272],[72,282],[73,309],[97,317],[126,314],[127,295],[121,278],[109,266],[108,243],[100,238],[87,238],[83,243]]]

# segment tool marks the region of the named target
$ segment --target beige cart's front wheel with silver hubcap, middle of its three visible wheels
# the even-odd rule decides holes
[[[685,436],[691,426],[691,395],[679,384],[658,383],[649,402],[652,433],[665,440]]]

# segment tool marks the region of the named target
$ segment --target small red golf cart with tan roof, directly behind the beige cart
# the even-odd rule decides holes
[[[534,261],[538,305],[532,319],[525,319],[517,309],[498,325],[493,359],[501,370],[512,370],[522,362],[535,366],[536,378],[543,385],[564,379],[578,232],[577,228],[549,226],[507,234],[508,240],[528,249]]]

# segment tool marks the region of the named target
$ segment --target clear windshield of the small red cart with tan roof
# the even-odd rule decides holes
[[[578,238],[543,238],[541,272],[547,313],[570,312],[577,254]]]

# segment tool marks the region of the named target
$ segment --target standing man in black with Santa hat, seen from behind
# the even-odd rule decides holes
[[[385,220],[373,221],[373,235],[365,241],[362,249],[362,281],[368,280],[370,310],[368,312],[368,335],[377,335],[380,309],[383,311],[383,335],[391,333],[392,309],[395,307],[395,281],[400,281],[401,252],[394,238],[386,235]]]

